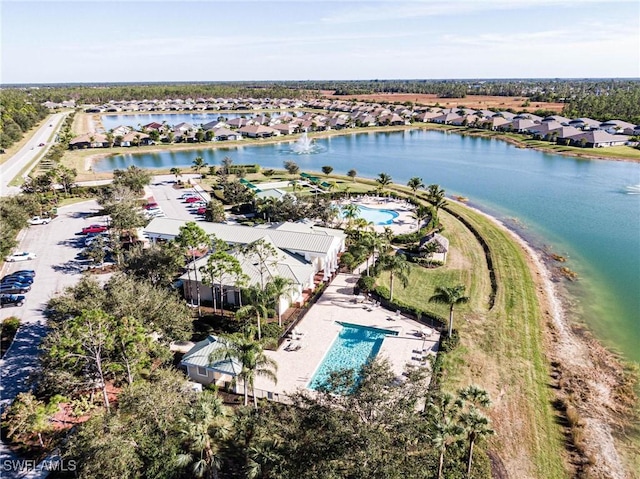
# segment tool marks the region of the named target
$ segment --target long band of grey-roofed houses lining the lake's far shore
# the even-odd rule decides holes
[[[228,101],[236,104],[235,102],[239,100]],[[269,101],[275,102],[275,100]],[[119,126],[110,132],[83,135],[72,140],[70,147],[136,146],[152,144],[155,141],[167,143],[229,141],[291,135],[305,131],[410,125],[415,122],[517,132],[537,139],[594,148],[624,145],[629,142],[631,136],[640,135],[639,125],[622,120],[572,119],[560,115],[540,117],[532,113],[516,114],[509,111],[409,107],[340,100],[284,101],[285,103],[274,103],[274,105],[298,105],[321,111],[297,113],[286,111],[277,115],[258,114],[233,119],[220,117],[200,125],[191,123],[168,125],[151,122],[143,125],[138,132],[132,131],[130,127]],[[258,101],[249,102],[250,105],[258,103]]]

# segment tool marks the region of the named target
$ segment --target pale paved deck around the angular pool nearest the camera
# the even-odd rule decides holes
[[[270,380],[258,377],[256,389],[285,395],[305,389],[340,332],[338,321],[397,331],[398,336],[384,339],[377,357],[388,358],[399,378],[407,364],[424,364],[423,349],[426,350],[424,355],[436,353],[437,331],[423,339],[425,325],[382,307],[369,311],[370,303],[355,302],[353,286],[358,278],[358,274],[338,274],[296,328],[303,333],[301,338],[285,341],[277,351],[266,351],[278,364],[278,383],[274,385]],[[287,350],[298,341],[300,349]]]

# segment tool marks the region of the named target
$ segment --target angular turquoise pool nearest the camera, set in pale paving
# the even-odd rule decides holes
[[[376,357],[385,336],[398,335],[397,331],[387,329],[342,322],[338,324],[342,329],[309,381],[309,389],[319,389],[332,371],[354,369],[357,372],[367,361]]]

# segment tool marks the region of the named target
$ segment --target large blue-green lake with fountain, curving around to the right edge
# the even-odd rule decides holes
[[[568,257],[567,266],[581,278],[569,285],[578,318],[610,347],[640,361],[640,164],[424,130],[350,134],[316,144],[320,151],[311,155],[297,155],[287,143],[135,153],[106,158],[95,169],[188,167],[196,156],[219,165],[229,156],[272,168],[293,160],[303,170],[331,165],[336,173],[354,168],[372,178],[385,172],[397,183],[420,176],[447,194],[469,197],[535,246]],[[634,185],[636,191],[628,189]]]

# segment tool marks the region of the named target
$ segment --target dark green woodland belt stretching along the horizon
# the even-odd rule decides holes
[[[301,98],[321,91],[337,95],[426,93],[440,98],[468,95],[519,96],[531,102],[561,102],[563,115],[640,124],[640,80],[362,80],[150,84],[82,84],[5,87],[0,91],[0,148],[19,140],[46,116],[45,101],[75,100],[102,104],[110,100],[165,98]]]

